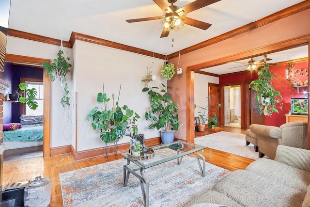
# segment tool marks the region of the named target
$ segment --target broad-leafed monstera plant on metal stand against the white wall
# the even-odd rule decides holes
[[[105,143],[115,142],[117,139],[122,139],[123,136],[132,138],[135,134],[138,134],[136,121],[140,116],[126,105],[120,107],[118,101],[115,106],[114,94],[112,98],[113,107],[109,109],[110,98],[104,92],[98,93],[97,102],[103,107],[94,107],[87,116],[88,121],[92,120],[93,130],[100,132],[100,138]]]

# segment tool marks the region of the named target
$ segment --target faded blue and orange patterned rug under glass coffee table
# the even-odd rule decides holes
[[[185,156],[182,160],[194,159]],[[64,207],[143,207],[140,181],[130,174],[127,187],[123,186],[125,159],[94,165],[60,174]],[[135,165],[131,163],[130,165]],[[176,160],[148,169],[154,175],[176,165]],[[206,162],[202,177],[198,163],[159,176],[150,182],[150,207],[182,206],[195,196],[212,189],[230,171]],[[138,171],[139,173],[139,171]]]

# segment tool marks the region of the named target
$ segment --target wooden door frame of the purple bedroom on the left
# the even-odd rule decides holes
[[[5,62],[24,64],[25,66],[42,67],[41,64],[47,62],[50,64],[49,59],[34,58],[21,55],[5,54]],[[43,115],[43,157],[50,157],[50,91],[51,81],[45,73],[43,68],[43,84],[44,84],[44,115]]]

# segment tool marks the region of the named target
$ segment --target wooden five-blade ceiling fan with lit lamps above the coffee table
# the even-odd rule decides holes
[[[196,19],[192,19],[184,15],[220,0],[195,0],[183,6],[182,8],[173,5],[173,3],[175,3],[177,0],[168,0],[168,2],[171,3],[171,6],[167,5],[166,0],[153,0],[153,1],[166,13],[165,16],[127,19],[126,21],[132,23],[132,22],[164,19],[162,23],[163,32],[161,33],[160,37],[167,37],[170,31],[179,30],[183,27],[184,24],[197,27],[202,30],[208,29],[211,26],[211,24]]]

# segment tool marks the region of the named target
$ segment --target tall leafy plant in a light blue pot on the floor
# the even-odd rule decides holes
[[[142,92],[148,92],[151,101],[151,107],[145,112],[144,116],[146,120],[153,120],[153,123],[149,125],[149,129],[162,128],[161,142],[171,143],[173,142],[174,131],[177,131],[179,126],[183,126],[183,124],[178,122],[177,111],[179,108],[173,103],[168,93],[168,89],[172,87],[166,87],[163,83],[161,85],[164,89],[160,90],[160,93],[156,91],[159,90],[158,87],[145,87],[142,89]],[[170,126],[173,129],[170,129]]]

